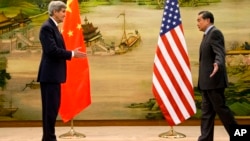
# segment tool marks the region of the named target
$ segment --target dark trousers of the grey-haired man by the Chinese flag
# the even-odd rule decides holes
[[[42,141],[56,141],[55,123],[60,107],[61,84],[40,83],[42,97]]]

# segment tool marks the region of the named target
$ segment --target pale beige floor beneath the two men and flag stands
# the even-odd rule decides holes
[[[60,126],[56,127],[56,134],[58,141],[197,141],[200,134],[199,126],[176,126],[173,128],[174,132],[168,132],[171,131],[170,129],[169,126],[91,126],[73,128]],[[41,131],[41,127],[0,128],[0,141],[40,141]],[[176,132],[178,134],[175,134]],[[162,133],[163,135],[161,135]],[[214,140],[229,141],[229,136],[223,126],[215,126]]]

